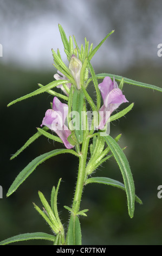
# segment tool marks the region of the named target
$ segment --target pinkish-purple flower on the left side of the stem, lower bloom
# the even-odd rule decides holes
[[[46,111],[45,117],[43,118],[42,125],[46,125],[50,130],[55,131],[57,135],[62,139],[65,147],[71,149],[74,145],[68,142],[68,137],[71,131],[64,124],[68,114],[68,105],[62,103],[57,97],[53,100],[53,109]]]

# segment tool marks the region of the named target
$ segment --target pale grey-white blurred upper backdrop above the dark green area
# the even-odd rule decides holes
[[[51,48],[65,56],[60,23],[79,45],[86,36],[94,47],[115,29],[92,59],[95,68],[123,70],[144,60],[161,65],[161,10],[160,0],[1,0],[0,64],[53,69]]]

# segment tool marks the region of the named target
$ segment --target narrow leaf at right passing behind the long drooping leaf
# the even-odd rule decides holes
[[[99,183],[99,184],[105,184],[105,185],[111,185],[113,187],[121,188],[121,190],[126,191],[124,184],[122,184],[118,180],[113,180],[107,177],[93,177],[86,180],[85,185],[90,183]],[[142,204],[142,201],[139,197],[135,196],[135,201],[139,204]]]

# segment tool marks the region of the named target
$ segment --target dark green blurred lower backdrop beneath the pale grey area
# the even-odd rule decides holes
[[[43,192],[50,200],[52,186],[62,178],[58,202],[60,216],[66,226],[69,214],[63,205],[70,206],[72,203],[78,162],[75,156],[70,155],[59,155],[47,160],[37,167],[11,197],[6,198],[5,194],[12,181],[31,160],[54,148],[62,147],[59,143],[53,143],[42,136],[20,156],[9,161],[11,154],[14,154],[36,132],[36,127],[40,127],[53,97],[42,94],[9,108],[7,104],[36,89],[37,83],[47,84],[52,81],[54,72],[21,70],[16,66],[2,65],[0,70],[2,84],[0,184],[3,186],[3,199],[0,199],[0,240],[33,231],[50,233],[32,202],[42,207],[37,191]],[[118,75],[161,87],[160,69],[151,65],[133,66],[124,74]],[[92,85],[90,90],[93,95]],[[83,193],[81,209],[89,209],[88,217],[80,218],[85,245],[160,245],[162,241],[162,199],[157,197],[157,187],[161,185],[162,180],[161,94],[129,85],[125,85],[123,90],[129,102],[134,102],[135,105],[126,117],[111,124],[111,135],[122,133],[120,146],[127,145],[125,154],[131,165],[136,193],[142,199],[143,205],[136,204],[135,215],[131,220],[123,191],[105,185],[87,185]],[[113,159],[102,164],[96,174],[122,181],[119,168]],[[48,244],[48,242],[43,243]],[[22,242],[18,244],[22,245]],[[40,245],[41,242],[23,242],[23,244]]]

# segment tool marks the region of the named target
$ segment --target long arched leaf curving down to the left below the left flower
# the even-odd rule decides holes
[[[20,174],[18,174],[15,181],[12,183],[12,185],[9,188],[9,191],[7,193],[7,197],[9,197],[12,193],[14,193],[17,188],[22,184],[22,182],[28,178],[28,176],[35,170],[35,168],[42,162],[46,161],[50,157],[63,154],[63,153],[71,153],[75,156],[78,156],[77,153],[72,149],[55,149],[48,153],[45,153],[41,156],[36,157],[33,161],[31,161],[28,166],[26,166]]]

